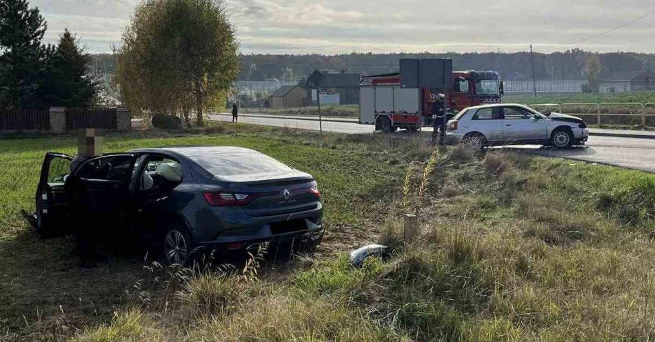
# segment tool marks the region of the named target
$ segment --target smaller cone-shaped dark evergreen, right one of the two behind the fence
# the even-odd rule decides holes
[[[39,97],[45,106],[86,108],[92,104],[96,84],[86,74],[91,57],[78,45],[68,28],[50,54]]]

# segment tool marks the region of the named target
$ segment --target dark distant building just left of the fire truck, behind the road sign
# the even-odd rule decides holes
[[[360,74],[323,72],[323,76],[325,79],[321,83],[321,104],[352,105],[359,103]],[[316,89],[312,88],[309,83],[305,83],[305,88],[307,88],[309,103],[315,105]]]

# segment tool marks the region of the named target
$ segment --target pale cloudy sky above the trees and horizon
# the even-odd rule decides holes
[[[64,28],[111,52],[139,0],[30,0],[52,43]],[[243,53],[655,52],[652,0],[225,0]]]

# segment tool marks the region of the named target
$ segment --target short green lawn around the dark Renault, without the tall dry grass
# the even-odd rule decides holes
[[[374,139],[378,154],[363,146]],[[332,136],[275,130],[252,125],[215,124],[191,132],[109,134],[105,152],[166,145],[236,145],[259,150],[309,172],[319,182],[328,223],[323,252],[341,250],[341,238],[366,232],[383,203],[392,199],[401,174],[402,150],[381,136]],[[107,319],[128,303],[125,290],[144,276],[143,255],[110,254],[98,270],[77,268],[71,239],[37,239],[19,212],[34,210],[34,192],[43,155],[49,151],[74,154],[74,135],[0,139],[0,331],[30,334],[35,327],[57,322],[75,327]],[[412,149],[416,153],[416,149]],[[408,154],[413,155],[413,154]],[[366,170],[364,172],[363,170]],[[378,199],[370,202],[370,197]],[[375,239],[375,228],[362,239]],[[98,285],[102,284],[102,285]],[[23,317],[24,315],[24,317]],[[0,335],[1,336],[1,335]]]

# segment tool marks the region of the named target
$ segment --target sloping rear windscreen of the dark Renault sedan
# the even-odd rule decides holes
[[[264,174],[289,172],[294,169],[263,154],[203,154],[190,157],[196,163],[216,176],[236,176],[245,174]]]

